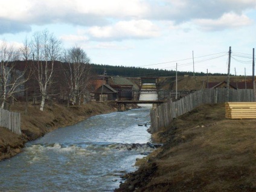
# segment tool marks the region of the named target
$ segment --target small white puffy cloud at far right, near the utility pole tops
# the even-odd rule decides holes
[[[203,30],[218,31],[226,28],[238,28],[252,24],[248,16],[235,13],[225,13],[219,19],[195,19],[194,24],[199,25]]]

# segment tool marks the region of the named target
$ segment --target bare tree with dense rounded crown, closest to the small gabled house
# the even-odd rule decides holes
[[[74,103],[81,104],[82,97],[85,101],[85,95],[88,93],[88,85],[91,79],[90,59],[82,48],[74,46],[65,51],[63,61],[68,63],[68,67],[64,72],[69,86],[69,98],[72,97]]]

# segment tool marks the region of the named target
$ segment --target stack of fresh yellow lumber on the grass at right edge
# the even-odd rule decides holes
[[[256,102],[226,102],[226,118],[255,119]]]

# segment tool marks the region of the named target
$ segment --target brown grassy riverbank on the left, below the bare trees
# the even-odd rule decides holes
[[[0,127],[0,161],[21,153],[27,141],[40,138],[58,127],[69,126],[94,115],[117,111],[117,108],[112,102],[91,102],[69,108],[63,104],[49,103],[41,112],[39,106],[33,106],[30,103],[28,112],[25,114],[25,103],[16,102],[11,106],[11,111],[21,113],[22,135],[16,135],[10,130]]]

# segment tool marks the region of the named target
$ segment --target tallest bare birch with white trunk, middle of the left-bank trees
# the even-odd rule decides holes
[[[45,100],[51,95],[50,87],[53,85],[54,63],[60,57],[61,42],[48,30],[34,33],[32,40],[35,57],[34,76],[39,84],[42,97],[40,110],[43,111]]]

